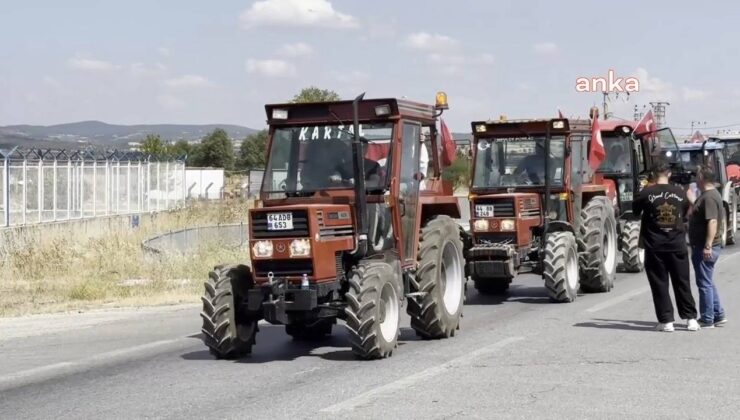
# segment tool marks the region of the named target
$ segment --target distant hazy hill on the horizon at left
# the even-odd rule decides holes
[[[242,139],[257,130],[230,124],[152,124],[116,125],[100,121],[81,121],[49,126],[0,126],[0,148],[41,147],[69,148],[83,144],[108,148],[126,148],[128,143],[144,139],[148,134],[159,134],[163,140],[198,140],[222,128],[233,139]]]

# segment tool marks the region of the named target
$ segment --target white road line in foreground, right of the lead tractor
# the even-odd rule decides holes
[[[471,362],[475,361],[475,359],[479,357],[487,356],[491,353],[495,353],[501,350],[502,348],[508,346],[509,344],[513,344],[521,340],[524,340],[524,337],[505,338],[501,341],[498,341],[486,347],[470,352],[464,356],[460,356],[458,358],[452,359],[449,362],[442,363],[441,365],[433,366],[429,369],[422,370],[421,372],[414,373],[413,375],[406,376],[404,378],[401,378],[389,384],[382,385],[377,388],[373,388],[370,391],[362,393],[356,397],[352,397],[340,403],[331,405],[329,407],[325,407],[321,409],[320,412],[340,413],[342,411],[354,410],[357,407],[371,403],[373,400],[375,400],[377,397],[383,394],[392,394],[394,392],[397,392],[397,391],[406,389],[410,386],[413,386],[414,384],[421,382],[425,379],[429,379],[433,376],[442,374],[445,371],[448,371],[449,369],[469,365]]]

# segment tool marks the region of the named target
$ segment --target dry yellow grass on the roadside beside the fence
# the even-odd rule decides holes
[[[239,201],[196,203],[143,218],[138,229],[121,225],[91,236],[68,226],[20,234],[13,243],[25,245],[1,252],[0,316],[197,302],[208,271],[243,261],[246,252],[203,244],[195,255],[152,257],[141,242],[170,230],[244,221],[247,210]]]

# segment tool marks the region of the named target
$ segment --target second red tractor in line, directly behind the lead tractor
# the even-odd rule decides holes
[[[591,127],[565,118],[472,123],[466,257],[479,292],[502,293],[527,271],[542,274],[555,302],[612,289],[617,221],[588,165]]]

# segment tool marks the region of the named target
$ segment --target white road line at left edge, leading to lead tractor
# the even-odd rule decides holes
[[[187,337],[175,338],[171,340],[160,340],[142,344],[139,346],[96,354],[94,356],[81,360],[54,363],[51,365],[39,366],[32,369],[14,372],[8,375],[0,376],[0,391],[49,380],[63,375],[81,372],[97,366],[104,366],[107,364],[115,363],[117,361],[123,361],[126,358],[138,353],[146,353],[147,351],[171,346],[173,344],[187,344],[189,346],[191,345],[191,343],[192,339]],[[179,348],[180,346],[175,347]]]

